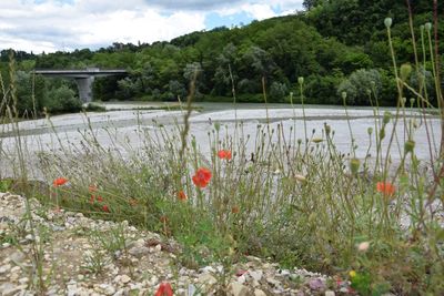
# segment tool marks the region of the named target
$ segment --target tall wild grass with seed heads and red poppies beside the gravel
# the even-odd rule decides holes
[[[387,32],[390,37],[390,25]],[[304,82],[299,81],[303,98]],[[183,246],[180,261],[186,266],[219,262],[229,267],[255,255],[283,267],[349,278],[362,295],[438,295],[444,292],[444,231],[438,220],[444,212],[444,159],[442,151],[435,152],[440,143],[433,141],[427,116],[422,124],[430,135],[430,159],[416,156],[417,126],[402,104],[406,85],[405,79],[397,78],[394,114],[380,116],[373,98],[374,124],[369,126],[376,147],[373,157],[356,159],[359,143],[354,142],[345,155],[335,145],[335,131],[325,124],[311,133],[306,121],[258,125],[254,134],[246,134],[240,121],[230,126],[213,122],[208,133],[210,153],[203,153],[189,132],[190,95],[183,124],[149,131],[138,126],[140,147],[119,144],[111,131],[108,135],[115,143],[111,147],[102,146],[93,130],[82,135],[79,145],[59,137],[59,152],[39,153],[39,170],[48,184],[58,177],[69,183],[48,185],[50,194],[40,198],[174,237]],[[416,93],[416,106],[427,113],[428,94],[421,86]],[[440,91],[436,95],[442,102]],[[405,126],[402,135],[395,129],[400,122]],[[300,126],[305,126],[302,139],[296,136]],[[16,141],[23,143],[20,131],[16,132]],[[350,133],[354,139],[351,127]],[[398,163],[391,162],[393,150],[383,151],[382,143],[400,147]],[[219,157],[221,150],[232,156]],[[17,145],[17,151],[22,155],[14,165],[18,178],[27,180],[22,173],[32,170],[23,159],[28,154],[23,145]],[[211,177],[196,174],[202,167]],[[36,191],[22,192],[36,195]],[[121,249],[124,235],[110,235],[101,244],[110,252]],[[88,268],[100,273],[102,267],[101,255],[92,253]]]

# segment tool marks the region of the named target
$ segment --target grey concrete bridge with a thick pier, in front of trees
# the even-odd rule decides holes
[[[85,70],[36,70],[36,74],[53,78],[72,78],[79,88],[79,96],[83,103],[92,101],[92,83],[97,76],[124,75],[127,70],[87,68]]]

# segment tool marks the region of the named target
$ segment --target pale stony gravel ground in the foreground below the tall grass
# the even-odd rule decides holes
[[[0,193],[0,295],[350,295],[349,282],[245,256],[181,264],[181,246],[127,222],[91,220]],[[31,218],[29,218],[31,217]]]

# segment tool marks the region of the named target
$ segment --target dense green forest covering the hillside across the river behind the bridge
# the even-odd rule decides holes
[[[238,102],[263,102],[265,89],[269,102],[290,102],[292,96],[300,103],[297,79],[302,76],[309,104],[343,104],[341,93],[346,92],[347,105],[376,101],[394,105],[396,86],[384,25],[390,17],[397,65],[413,65],[412,85],[424,78],[427,88],[435,88],[431,63],[414,60],[408,22],[411,11],[418,57],[430,60],[430,48],[436,42],[443,52],[444,24],[438,23],[435,39],[433,1],[305,0],[303,4],[304,11],[291,16],[192,32],[170,42],[113,43],[97,51],[41,54],[2,50],[1,75],[3,83],[17,85],[16,104],[22,115],[81,109],[74,81],[34,75],[34,69],[90,67],[129,72],[97,79],[93,95],[99,101],[176,101],[186,96],[198,73],[196,101],[232,101],[234,89]],[[440,59],[442,68],[444,60]]]

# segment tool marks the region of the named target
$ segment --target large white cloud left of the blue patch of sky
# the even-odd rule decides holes
[[[93,4],[87,0],[74,4],[16,0],[2,1],[0,10],[0,49],[33,52],[150,43],[205,29],[202,12],[165,14],[143,0],[97,0]]]

